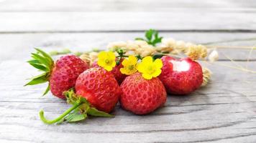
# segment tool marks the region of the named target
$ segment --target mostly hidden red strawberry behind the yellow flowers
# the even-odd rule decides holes
[[[111,73],[114,74],[114,77],[116,78],[116,81],[119,83],[119,84],[122,84],[122,82],[124,81],[125,77],[127,77],[127,75],[125,74],[122,74],[120,69],[122,67],[124,67],[121,63],[124,59],[121,59],[119,64],[117,64],[112,70],[111,70]],[[99,65],[97,64],[97,61],[94,61],[93,64],[92,64],[92,67],[99,67]]]

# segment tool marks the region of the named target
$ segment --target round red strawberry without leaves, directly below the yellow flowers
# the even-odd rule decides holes
[[[122,107],[134,114],[148,114],[166,102],[166,91],[160,79],[144,79],[135,73],[124,79],[121,84]]]

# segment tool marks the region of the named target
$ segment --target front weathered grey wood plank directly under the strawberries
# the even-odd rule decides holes
[[[50,118],[69,106],[50,94],[39,98],[43,85],[22,87],[24,79],[36,72],[24,61],[2,61],[0,141],[252,142],[256,139],[255,74],[218,63],[230,64],[219,61],[208,65],[214,72],[208,87],[188,96],[170,95],[165,107],[150,115],[136,116],[117,105],[113,119],[91,118],[78,124],[47,126],[38,118],[40,109],[45,109]],[[255,61],[249,64],[255,69]]]

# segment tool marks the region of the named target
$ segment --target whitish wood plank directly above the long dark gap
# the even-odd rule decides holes
[[[3,32],[79,32],[129,30],[249,30],[255,13],[173,12],[1,12]],[[107,29],[107,30],[106,30]]]

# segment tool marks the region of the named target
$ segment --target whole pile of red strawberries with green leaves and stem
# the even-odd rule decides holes
[[[145,79],[138,71],[131,75],[122,74],[119,70],[123,67],[121,62],[107,71],[97,63],[90,66],[75,55],[65,55],[54,62],[47,53],[36,50],[28,62],[44,73],[26,85],[48,82],[44,94],[50,90],[55,97],[73,104],[53,120],[45,119],[41,111],[40,119],[46,124],[81,121],[88,115],[111,117],[109,112],[117,102],[134,114],[149,114],[163,107],[167,93],[190,94],[203,82],[201,65],[189,58],[163,56],[160,76]]]

